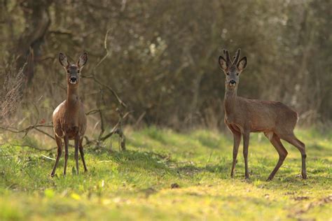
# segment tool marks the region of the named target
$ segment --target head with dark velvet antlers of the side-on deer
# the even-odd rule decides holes
[[[234,90],[240,80],[240,73],[247,66],[247,57],[242,57],[239,61],[241,49],[239,48],[236,52],[236,56],[233,57],[233,62],[230,61],[230,54],[228,50],[224,49],[223,53],[226,55],[226,59],[222,56],[219,57],[219,65],[226,75],[226,88],[228,90]]]

